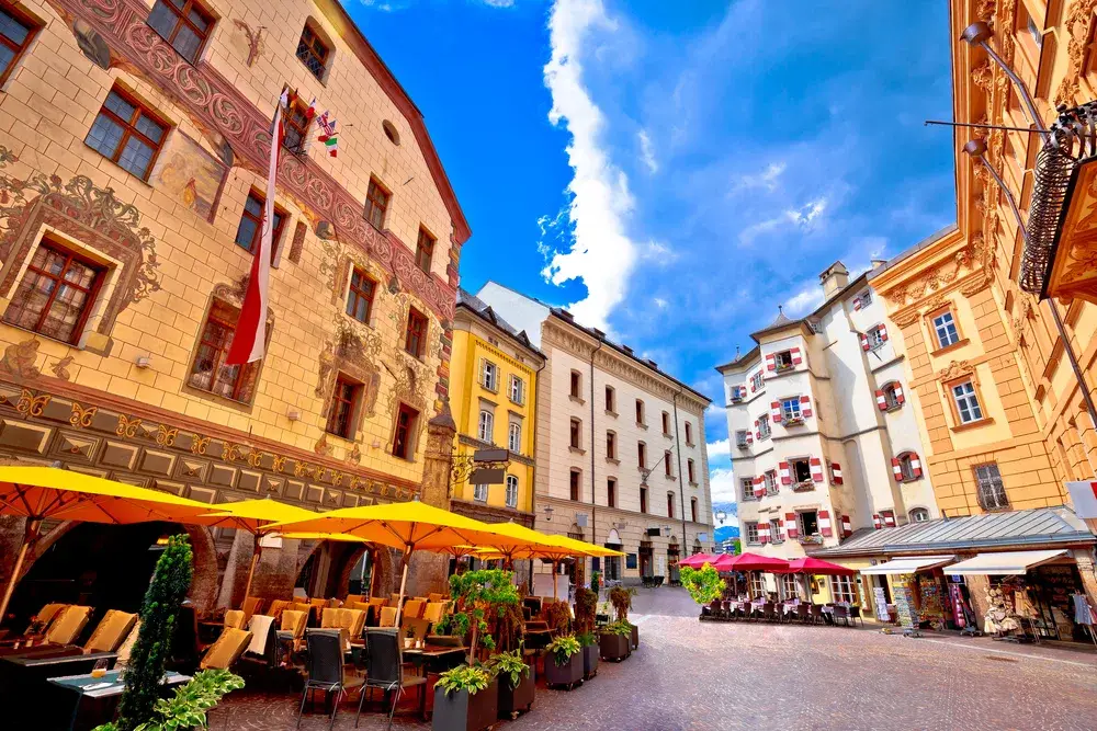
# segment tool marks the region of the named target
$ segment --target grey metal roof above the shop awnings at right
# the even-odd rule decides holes
[[[1036,507],[908,523],[897,528],[862,528],[840,546],[812,556],[894,556],[980,548],[1093,544],[1097,536],[1070,507]]]

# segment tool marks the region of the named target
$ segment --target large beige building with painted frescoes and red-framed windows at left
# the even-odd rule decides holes
[[[446,467],[422,483],[470,229],[420,112],[335,0],[185,8],[0,2],[0,455],[210,502],[448,504]],[[228,367],[286,88],[267,356]],[[250,537],[189,533],[195,601],[239,602]],[[346,591],[340,556],[306,591]],[[264,552],[258,591],[298,564]]]

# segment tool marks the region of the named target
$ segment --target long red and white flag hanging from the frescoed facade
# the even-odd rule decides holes
[[[274,195],[278,179],[278,163],[285,140],[285,125],[282,114],[290,103],[289,90],[282,92],[278,108],[274,110],[274,134],[271,138],[271,158],[267,170],[267,203],[263,206],[263,232],[259,248],[251,260],[248,290],[244,294],[240,319],[236,323],[233,345],[228,349],[225,365],[244,365],[261,361],[267,347],[267,296],[271,278],[271,250],[274,244]]]

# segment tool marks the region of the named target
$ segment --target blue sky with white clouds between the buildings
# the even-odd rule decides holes
[[[472,225],[463,286],[568,306],[714,407],[713,366],[834,260],[954,220],[951,133],[923,126],[951,118],[946,2],[344,2]]]

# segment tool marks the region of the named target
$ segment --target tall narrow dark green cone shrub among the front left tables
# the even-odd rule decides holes
[[[171,650],[176,617],[191,586],[193,553],[185,535],[172,536],[156,562],[140,605],[140,629],[129,653],[125,690],[118,706],[118,731],[134,731],[152,718],[160,678]]]

